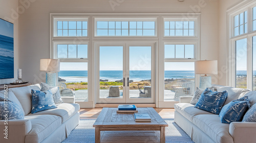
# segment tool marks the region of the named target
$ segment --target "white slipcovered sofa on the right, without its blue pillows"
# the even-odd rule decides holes
[[[224,105],[249,92],[249,89],[213,86],[218,91],[228,91]],[[249,97],[250,104],[254,104],[255,99],[256,94]],[[190,100],[191,97],[181,97],[180,103],[175,104],[175,122],[194,142],[256,142],[256,123],[232,122],[231,124],[223,124],[219,115],[195,108],[195,105],[190,104]]]

